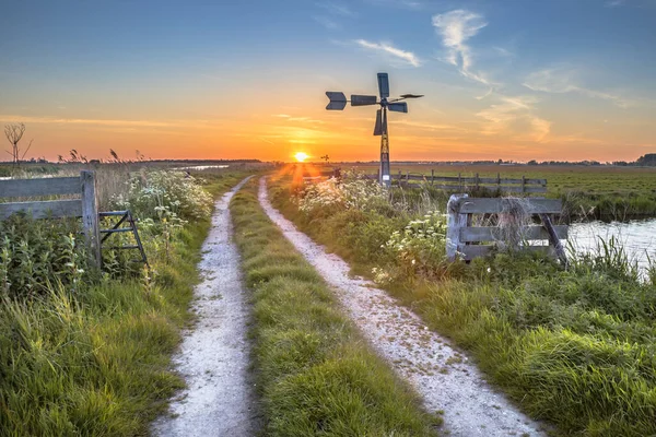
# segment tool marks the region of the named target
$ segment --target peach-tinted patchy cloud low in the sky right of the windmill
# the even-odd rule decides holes
[[[511,134],[531,141],[544,141],[551,122],[535,115],[535,96],[505,96],[497,94],[499,103],[481,110],[477,116],[485,120],[482,132],[488,135]],[[518,126],[522,125],[522,126]]]

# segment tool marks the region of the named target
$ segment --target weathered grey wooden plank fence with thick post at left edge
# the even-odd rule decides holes
[[[0,199],[71,194],[79,198],[0,203],[0,220],[19,211],[25,211],[34,218],[82,217],[92,261],[99,267],[98,201],[94,172],[83,170],[80,177],[0,180]]]

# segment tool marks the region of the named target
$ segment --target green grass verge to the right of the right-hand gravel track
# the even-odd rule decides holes
[[[398,261],[380,245],[411,216],[298,212],[284,182],[273,203],[304,232],[371,276]],[[537,256],[497,255],[401,276],[390,293],[469,350],[489,378],[560,435],[656,434],[656,281],[641,282],[620,247],[563,271]],[[376,262],[376,258],[378,261]]]

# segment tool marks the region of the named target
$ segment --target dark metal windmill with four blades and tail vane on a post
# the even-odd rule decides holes
[[[370,95],[352,94],[351,99],[347,101],[347,96],[341,92],[327,91],[326,95],[330,99],[326,109],[342,110],[347,106],[347,102],[351,102],[351,106],[371,106],[380,105],[380,109],[376,113],[376,126],[374,127],[374,135],[380,137],[380,172],[378,179],[382,185],[388,187],[391,185],[391,175],[389,174],[389,138],[387,135],[387,109],[395,113],[408,113],[408,104],[406,98],[418,98],[423,95],[418,94],[401,94],[397,98],[389,98],[389,79],[387,73],[378,73],[378,97]]]

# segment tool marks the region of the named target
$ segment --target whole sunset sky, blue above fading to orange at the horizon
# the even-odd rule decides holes
[[[325,92],[387,72],[425,95],[390,113],[393,161],[634,161],[656,152],[654,47],[656,0],[23,0],[0,125],[48,160],[376,161],[376,107]]]

